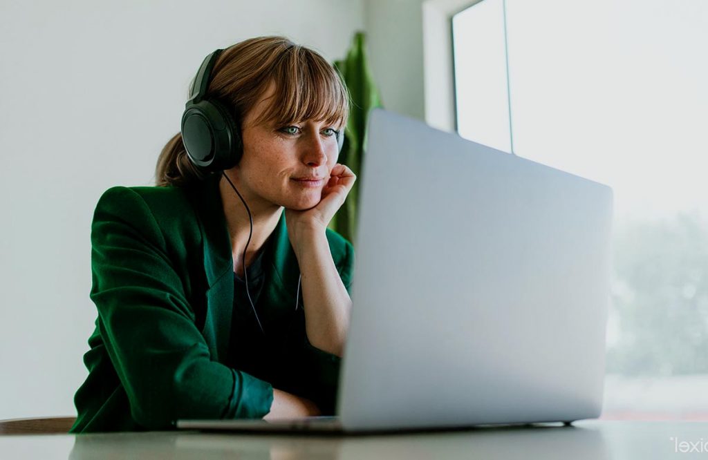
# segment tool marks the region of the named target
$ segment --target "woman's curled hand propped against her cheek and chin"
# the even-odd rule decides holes
[[[324,232],[337,210],[344,204],[356,176],[347,166],[337,163],[329,174],[329,181],[322,189],[322,197],[315,207],[304,211],[285,209],[287,233],[295,247],[301,234],[310,231]]]

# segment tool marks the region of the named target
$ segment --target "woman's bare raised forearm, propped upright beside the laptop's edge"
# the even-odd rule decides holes
[[[352,301],[334,265],[324,231],[300,236],[295,254],[302,276],[307,338],[314,347],[341,357]]]

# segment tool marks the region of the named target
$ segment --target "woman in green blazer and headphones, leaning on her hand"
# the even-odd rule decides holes
[[[333,413],[353,248],[326,226],[355,180],[336,163],[346,88],[316,52],[264,37],[207,57],[193,90],[159,186],[96,206],[98,318],[72,432]],[[202,98],[242,139],[225,163],[195,146]]]

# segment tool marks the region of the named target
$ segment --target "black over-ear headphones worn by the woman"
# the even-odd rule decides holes
[[[233,168],[244,154],[241,128],[232,115],[233,110],[206,96],[212,69],[222,51],[212,52],[202,62],[182,114],[182,142],[187,156],[205,172]],[[337,134],[339,151],[344,144],[343,131]]]

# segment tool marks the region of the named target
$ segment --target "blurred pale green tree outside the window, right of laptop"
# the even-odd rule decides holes
[[[708,226],[698,212],[618,224],[607,372],[708,374]]]

